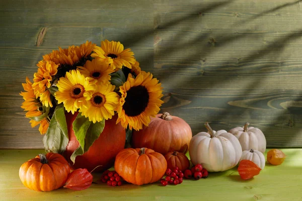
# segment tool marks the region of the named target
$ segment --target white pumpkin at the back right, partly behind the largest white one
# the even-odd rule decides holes
[[[244,127],[236,127],[231,129],[229,133],[232,133],[238,138],[242,151],[254,149],[264,153],[266,150],[266,139],[264,134],[258,128],[248,128],[249,125],[249,123],[246,123]]]

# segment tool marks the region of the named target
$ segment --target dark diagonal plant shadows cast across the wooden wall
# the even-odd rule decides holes
[[[255,35],[253,33],[251,33],[249,30],[246,31],[241,31],[241,33],[235,32],[232,35],[229,36],[225,36],[225,35],[221,35],[218,36],[218,38],[211,38],[211,35],[209,32],[205,32],[205,33],[201,33],[200,35],[196,36],[194,40],[183,40],[183,36],[185,30],[190,30],[192,29],[192,24],[194,24],[195,21],[198,20],[199,24],[197,26],[200,26],[200,22],[202,24],[202,19],[199,18],[199,16],[203,15],[203,13],[209,13],[210,11],[214,11],[215,9],[219,8],[219,7],[225,7],[226,5],[233,3],[234,1],[225,1],[222,3],[212,3],[210,5],[207,5],[206,7],[204,7],[203,4],[196,6],[196,10],[193,11],[191,14],[188,14],[184,17],[182,17],[181,19],[176,19],[176,20],[172,20],[166,23],[160,23],[157,22],[158,19],[160,17],[155,17],[155,30],[146,30],[143,31],[143,33],[139,36],[136,37],[135,35],[135,42],[138,42],[140,40],[144,40],[145,37],[153,37],[155,36],[155,38],[157,37],[157,35],[163,35],[165,33],[169,32],[170,28],[173,27],[177,27],[180,23],[182,23],[182,32],[176,32],[173,33],[173,37],[170,38],[170,40],[168,42],[166,41],[161,41],[159,42],[157,45],[155,45],[155,55],[154,55],[154,59],[156,61],[165,61],[167,58],[171,57],[171,55],[175,54],[177,51],[186,48],[186,50],[188,50],[190,47],[195,47],[193,48],[192,52],[190,52],[189,55],[186,55],[185,57],[179,57],[179,58],[173,58],[173,63],[175,64],[184,64],[181,65],[181,67],[178,68],[173,68],[173,71],[171,69],[171,65],[167,65],[167,66],[162,66],[162,69],[155,70],[155,76],[157,76],[161,82],[163,83],[168,83],[169,82],[169,78],[170,76],[177,76],[177,75],[181,75],[181,74],[185,74],[186,71],[188,70],[188,68],[192,68],[193,65],[200,65],[200,62],[210,56],[214,51],[215,48],[221,48],[224,46],[228,46],[229,44],[231,44],[233,41],[235,40],[239,40],[242,38],[249,38],[249,37],[254,37],[257,38],[259,37],[259,35]],[[282,8],[288,7],[288,6],[292,6],[297,4],[298,2],[302,2],[302,0],[300,1],[295,1],[292,3],[287,3],[284,4],[282,6],[278,6],[276,8],[267,10],[263,13],[260,13],[257,16],[254,16],[253,18],[249,18],[247,20],[243,20],[240,23],[241,24],[237,24],[237,26],[242,25],[242,23],[248,23],[251,22],[253,20],[255,20],[256,18],[261,18],[269,13],[272,12],[276,12]],[[201,8],[201,9],[198,9]],[[186,24],[186,25],[185,25]],[[278,25],[276,25],[278,26]],[[239,64],[236,66],[237,68],[241,68],[244,67],[244,65],[248,65],[248,63],[252,63],[255,62],[257,60],[260,60],[262,57],[264,57],[265,55],[268,54],[274,54],[275,56],[271,59],[271,62],[274,62],[274,58],[277,58],[281,55],[283,49],[286,47],[286,45],[294,40],[297,40],[299,38],[301,38],[302,36],[302,30],[297,30],[295,32],[292,32],[284,37],[280,37],[277,40],[275,40],[274,42],[266,45],[265,47],[263,47],[262,49],[256,50],[254,52],[252,52],[250,55],[247,55],[243,58],[240,58],[240,62]],[[127,36],[125,36],[124,38],[121,38],[121,41],[123,41],[124,45],[130,46],[130,44],[132,44],[133,42],[133,38],[134,36],[130,34],[128,34]],[[155,39],[157,40],[157,39]],[[208,42],[205,44],[205,40],[208,40]],[[199,48],[196,48],[199,47]],[[152,57],[153,58],[153,57]],[[140,63],[143,66],[144,64],[147,64],[150,62],[150,57],[146,58],[144,60],[141,60]],[[243,65],[241,65],[240,63],[244,63]],[[228,63],[225,64],[221,64],[221,66],[224,65],[228,65]],[[165,67],[167,69],[165,69]],[[202,78],[207,81],[207,86],[208,88],[206,89],[207,91],[211,90],[211,89],[215,89],[215,87],[219,85],[224,85],[224,84],[228,84],[228,82],[234,80],[237,78],[237,75],[231,75],[226,77],[223,74],[218,74],[215,75],[214,73],[211,73],[211,69],[210,68],[215,68],[213,66],[207,67],[207,69],[205,69],[202,72]],[[154,69],[153,69],[154,70]],[[163,72],[166,72],[163,74]],[[171,72],[173,72],[173,75],[171,75]],[[245,70],[241,73],[241,75],[243,76],[248,76],[250,73],[249,70]],[[263,82],[265,82],[265,79],[267,78],[267,76],[271,75],[270,72],[259,72],[259,75],[261,74],[261,76],[255,76],[253,81],[250,82],[249,86],[247,87],[247,89],[241,94],[241,96],[243,97],[247,97],[247,96],[252,96],[254,90],[253,89],[257,89],[257,88],[261,88],[261,84],[263,84]],[[211,77],[212,79],[206,79],[206,77]],[[217,82],[215,79],[218,78],[219,82]],[[222,78],[223,79],[220,79]],[[200,83],[200,77],[198,76],[193,76],[192,79],[190,80],[186,80],[189,81],[189,83],[186,83],[186,86],[188,85],[196,85],[196,83]],[[174,89],[180,89],[180,88],[184,88],[183,86],[183,82],[178,82],[178,85],[175,84],[173,85],[173,90]],[[196,89],[197,87],[194,88],[195,92],[198,92]],[[168,89],[169,90],[169,89]],[[172,90],[172,89],[171,89]],[[200,91],[202,91],[203,89],[200,88]],[[199,92],[200,92],[199,91]],[[169,93],[169,91],[165,91],[166,97],[167,96],[171,96],[171,93]],[[165,98],[165,97],[164,97]],[[202,98],[202,97],[199,97]],[[169,99],[169,98],[168,98]],[[238,97],[231,97],[229,99],[229,102],[233,102],[236,101],[238,99]],[[294,98],[291,98],[291,100],[302,100],[301,99],[301,94],[296,95]],[[172,105],[171,105],[172,104]],[[166,103],[163,105],[162,110],[165,111],[173,111],[173,114],[176,116],[182,116],[180,113],[183,111],[181,108],[181,105],[179,107],[175,107],[175,102],[172,103]],[[218,127],[221,126],[221,124],[225,124],[225,127],[235,127],[235,126],[243,126],[244,125],[244,119],[242,119],[242,122],[232,122],[230,124],[230,122],[227,123],[223,123],[225,121],[225,117],[231,117],[235,114],[239,114],[240,113],[252,113],[253,112],[253,108],[242,108],[242,107],[238,107],[238,106],[234,106],[234,105],[229,105],[229,104],[225,104],[225,106],[223,106],[223,110],[216,110],[214,116],[215,116],[215,121],[212,122],[212,124]],[[261,124],[259,122],[257,122],[256,124],[259,126],[259,128],[261,128],[263,130],[263,132],[265,134],[268,134],[269,136],[273,136],[273,133],[269,133],[271,131],[271,127],[275,127],[275,129],[281,129],[284,130],[284,132],[286,133],[286,131],[288,131],[288,129],[293,129],[295,127],[295,120],[300,117],[300,114],[302,112],[302,108],[300,107],[294,107],[294,108],[288,108],[288,109],[284,109],[284,110],[278,110],[278,112],[276,114],[278,114],[277,116],[274,116],[275,119],[272,119],[269,124]],[[260,115],[261,116],[261,112],[255,112],[256,115]],[[197,117],[194,117],[197,118]],[[288,122],[284,121],[286,118],[288,118]],[[212,119],[212,118],[210,118]],[[194,119],[194,121],[198,121],[196,119]],[[205,120],[206,121],[206,120]],[[281,125],[274,125],[272,124],[272,122],[284,122],[284,124]],[[251,122],[252,123],[252,122]],[[228,128],[224,128],[224,129],[228,129]],[[194,130],[193,130],[193,134],[196,134],[197,132],[200,131],[204,131],[205,128],[203,126],[202,123],[195,125]],[[295,132],[298,133],[299,132],[299,128],[294,128]],[[287,136],[287,142],[291,142],[292,140],[295,140],[295,136],[293,135],[286,135]],[[283,138],[282,138],[283,139]],[[274,146],[284,146],[284,144],[282,145],[281,141],[279,142],[280,144],[274,144]],[[285,145],[286,146],[286,145]]]

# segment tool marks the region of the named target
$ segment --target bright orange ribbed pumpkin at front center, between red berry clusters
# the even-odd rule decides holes
[[[117,154],[114,168],[127,182],[142,185],[160,180],[167,170],[167,161],[152,149],[127,148]]]

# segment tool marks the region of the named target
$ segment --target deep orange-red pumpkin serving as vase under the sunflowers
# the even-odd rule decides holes
[[[78,113],[66,114],[66,122],[68,128],[69,143],[66,147],[65,157],[67,157],[70,165],[70,156],[75,149],[79,147],[79,141],[74,136],[72,130],[72,122],[77,117]],[[86,168],[89,171],[102,171],[110,168],[114,164],[115,156],[119,151],[124,149],[126,140],[126,131],[121,124],[116,124],[117,115],[113,116],[111,120],[106,120],[105,128],[100,137],[92,144],[89,150],[81,156],[75,158],[73,168]]]

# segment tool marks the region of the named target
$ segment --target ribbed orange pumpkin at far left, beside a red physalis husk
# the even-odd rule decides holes
[[[70,167],[65,158],[56,153],[39,154],[23,163],[19,169],[22,183],[36,191],[50,191],[62,187]]]

